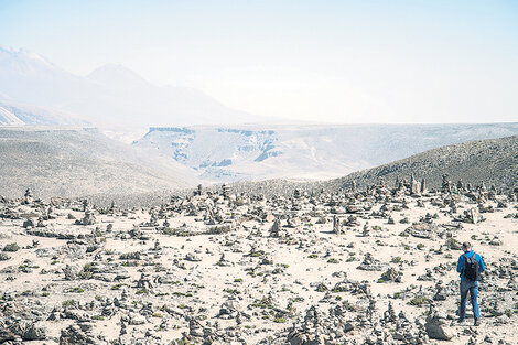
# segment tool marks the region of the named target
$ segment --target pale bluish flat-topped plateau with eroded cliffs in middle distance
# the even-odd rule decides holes
[[[152,128],[134,145],[208,181],[322,180],[467,140],[518,134],[518,123]]]

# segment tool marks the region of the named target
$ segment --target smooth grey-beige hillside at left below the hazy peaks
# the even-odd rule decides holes
[[[190,172],[97,130],[0,129],[0,195],[134,194],[195,185]],[[153,166],[153,168],[150,168]]]

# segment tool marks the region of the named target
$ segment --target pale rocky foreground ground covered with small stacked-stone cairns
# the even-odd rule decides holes
[[[2,197],[0,343],[512,344],[517,194],[438,179],[140,208]],[[487,268],[478,327],[456,323],[465,240]]]

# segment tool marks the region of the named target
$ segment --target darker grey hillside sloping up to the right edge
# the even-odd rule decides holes
[[[358,186],[378,183],[385,179],[389,184],[400,179],[425,179],[429,187],[440,187],[442,175],[451,181],[462,179],[464,183],[487,186],[495,184],[506,190],[518,184],[518,136],[463,142],[425,151],[407,159],[384,164],[366,171],[355,172],[333,180],[327,186]]]

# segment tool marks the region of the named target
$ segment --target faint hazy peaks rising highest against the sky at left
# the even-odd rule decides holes
[[[198,90],[152,85],[120,65],[106,65],[79,77],[26,50],[0,47],[0,95],[12,101],[72,111],[107,126],[257,120]]]

